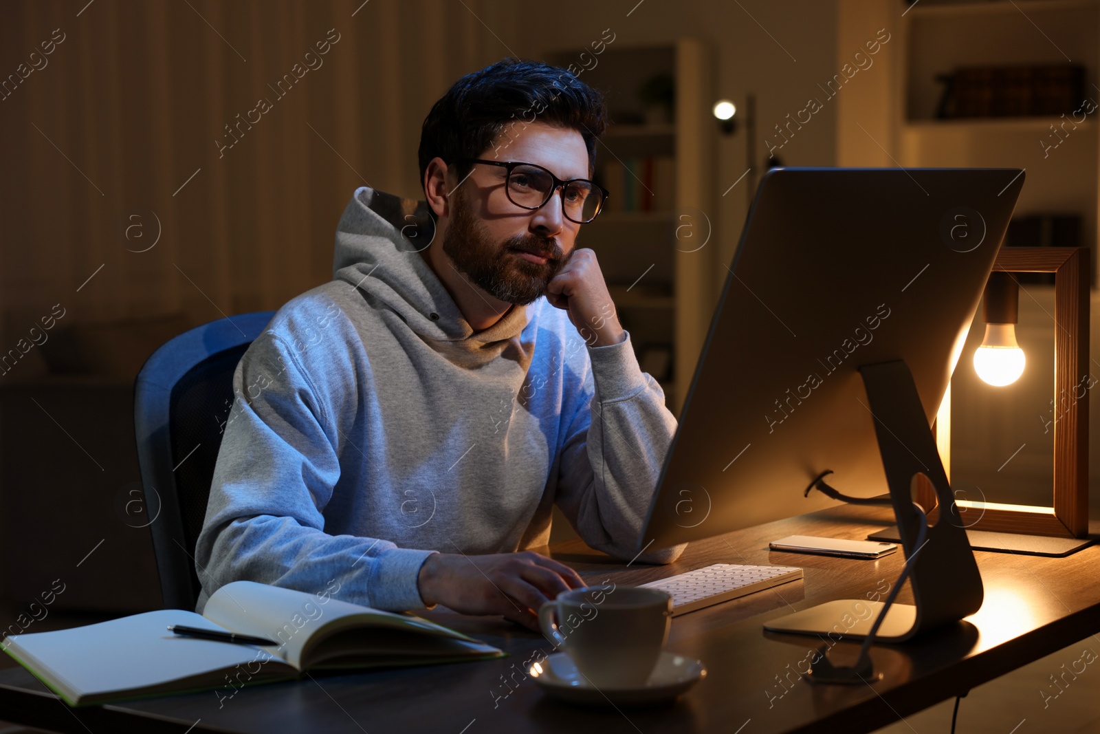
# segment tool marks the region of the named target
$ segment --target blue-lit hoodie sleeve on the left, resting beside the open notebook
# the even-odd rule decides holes
[[[324,533],[340,436],[295,350],[262,335],[237,365],[233,393],[195,549],[204,596],[242,579],[307,592],[336,580],[343,601],[424,609],[417,578],[436,551]]]

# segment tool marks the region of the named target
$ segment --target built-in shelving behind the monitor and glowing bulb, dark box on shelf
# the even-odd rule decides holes
[[[1100,112],[1066,125],[1068,134],[1047,151],[1041,141],[1053,142],[1052,125],[1060,127],[1069,114],[937,119],[942,87],[936,75],[958,67],[1077,64],[1085,67],[1084,96],[1100,102],[1100,0],[921,0],[915,6],[840,0],[839,10],[838,47],[858,45],[880,28],[897,40],[879,55],[881,74],[869,72],[862,88],[839,100],[837,165],[1024,168],[1013,217],[1080,216],[1076,244],[1091,249],[1094,277]],[[1050,504],[1053,434],[1041,418],[1053,396],[1054,293],[1044,284],[1023,288],[1016,338],[1027,354],[1024,375],[1011,386],[990,387],[974,374],[971,358],[983,331],[979,307],[941,408],[942,416],[950,416],[942,453],[959,499]],[[1097,291],[1091,299],[1094,327]],[[1100,339],[1093,335],[1091,341],[1092,374],[1098,374]],[[1098,446],[1094,436],[1091,443]],[[1097,452],[1090,453],[1096,465]],[[1098,489],[1093,481],[1093,507]]]

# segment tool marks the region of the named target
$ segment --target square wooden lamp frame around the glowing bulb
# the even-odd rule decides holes
[[[1054,273],[1054,496],[1049,510],[1042,511],[959,501],[967,510],[983,511],[978,521],[967,523],[968,529],[1075,538],[1088,535],[1089,395],[1086,390],[1078,397],[1075,387],[1089,375],[1090,262],[1088,248],[1002,247],[997,255],[994,271]],[[959,364],[964,363],[960,359]],[[944,414],[941,408],[937,423]],[[931,511],[936,505],[935,492],[923,476],[917,479],[916,501]]]

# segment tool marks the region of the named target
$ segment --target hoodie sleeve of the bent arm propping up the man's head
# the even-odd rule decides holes
[[[561,449],[558,506],[590,547],[671,563],[688,544],[638,555],[638,539],[676,419],[660,385],[638,366],[629,332],[617,344],[586,350],[591,370],[582,368],[579,399],[563,402],[575,409]]]

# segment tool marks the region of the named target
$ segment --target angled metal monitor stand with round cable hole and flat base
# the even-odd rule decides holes
[[[981,607],[981,576],[955,510],[936,441],[903,360],[859,368],[875,420],[882,467],[901,535],[914,604],[893,604],[876,639],[901,643],[914,635],[958,622]],[[913,507],[919,474],[935,487],[941,512],[916,548],[921,516]],[[915,555],[915,557],[914,557]],[[843,599],[765,623],[769,632],[861,638],[867,636],[882,602]]]

